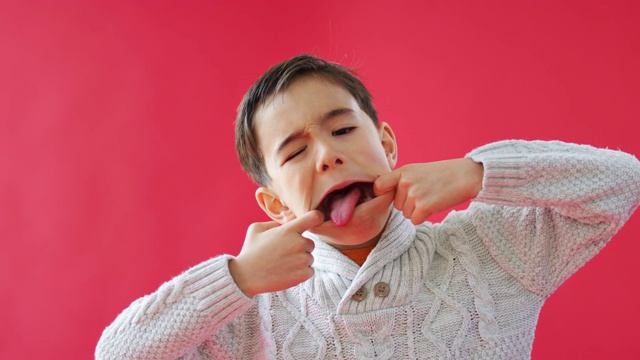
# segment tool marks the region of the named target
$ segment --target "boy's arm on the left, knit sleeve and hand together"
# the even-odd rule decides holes
[[[175,359],[205,341],[233,348],[242,339],[214,334],[245,313],[249,297],[284,290],[313,276],[313,242],[305,230],[323,217],[310,211],[282,226],[249,227],[237,257],[220,256],[165,283],[124,310],[102,334],[97,359]],[[229,330],[229,329],[227,329]]]

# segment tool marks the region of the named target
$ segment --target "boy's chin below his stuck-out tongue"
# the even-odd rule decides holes
[[[313,234],[337,246],[357,246],[380,235],[391,213],[393,193],[381,195],[358,205],[351,220],[337,227],[331,220],[313,228]]]

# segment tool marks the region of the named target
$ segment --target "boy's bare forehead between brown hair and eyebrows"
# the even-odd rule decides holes
[[[294,80],[273,94],[254,115],[254,131],[260,148],[268,151],[279,139],[300,128],[320,125],[323,117],[337,109],[360,107],[344,87],[318,75]]]

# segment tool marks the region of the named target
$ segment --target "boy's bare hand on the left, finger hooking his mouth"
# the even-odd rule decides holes
[[[236,284],[248,297],[285,290],[311,278],[314,243],[301,234],[324,222],[317,210],[280,225],[249,226],[240,254],[229,262]]]

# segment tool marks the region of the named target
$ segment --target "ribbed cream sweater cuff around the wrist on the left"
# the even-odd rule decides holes
[[[254,301],[247,297],[229,272],[229,260],[233,256],[222,255],[187,270],[185,291],[199,300],[197,310],[216,316],[236,317],[250,308]]]

